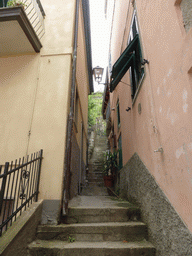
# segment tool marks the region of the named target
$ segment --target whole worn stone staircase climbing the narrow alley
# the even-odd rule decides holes
[[[90,161],[89,184],[70,201],[65,224],[40,225],[37,240],[29,245],[30,256],[155,255],[139,208],[108,196],[101,185],[96,154]]]

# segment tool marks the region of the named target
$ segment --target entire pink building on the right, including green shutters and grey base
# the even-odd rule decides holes
[[[112,22],[103,114],[110,106],[121,193],[140,205],[157,255],[191,255],[192,3],[106,6]]]

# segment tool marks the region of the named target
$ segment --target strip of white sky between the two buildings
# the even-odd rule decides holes
[[[106,68],[108,64],[107,21],[105,19],[105,0],[89,0],[91,19],[92,66]],[[104,70],[105,74],[105,70]],[[105,78],[105,75],[103,76]],[[104,83],[104,79],[102,81]],[[103,91],[104,85],[94,81],[94,91]]]

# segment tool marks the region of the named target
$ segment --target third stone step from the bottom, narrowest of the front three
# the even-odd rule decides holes
[[[140,209],[136,206],[112,208],[70,207],[66,223],[99,223],[139,221]]]

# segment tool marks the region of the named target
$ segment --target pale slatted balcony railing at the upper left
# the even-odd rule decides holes
[[[12,0],[11,0],[12,1]],[[0,7],[7,8],[8,0],[0,0]],[[45,12],[40,0],[15,0],[18,4],[23,4],[25,13],[36,32],[39,39],[45,34],[44,17]],[[13,2],[13,6],[17,6]]]

